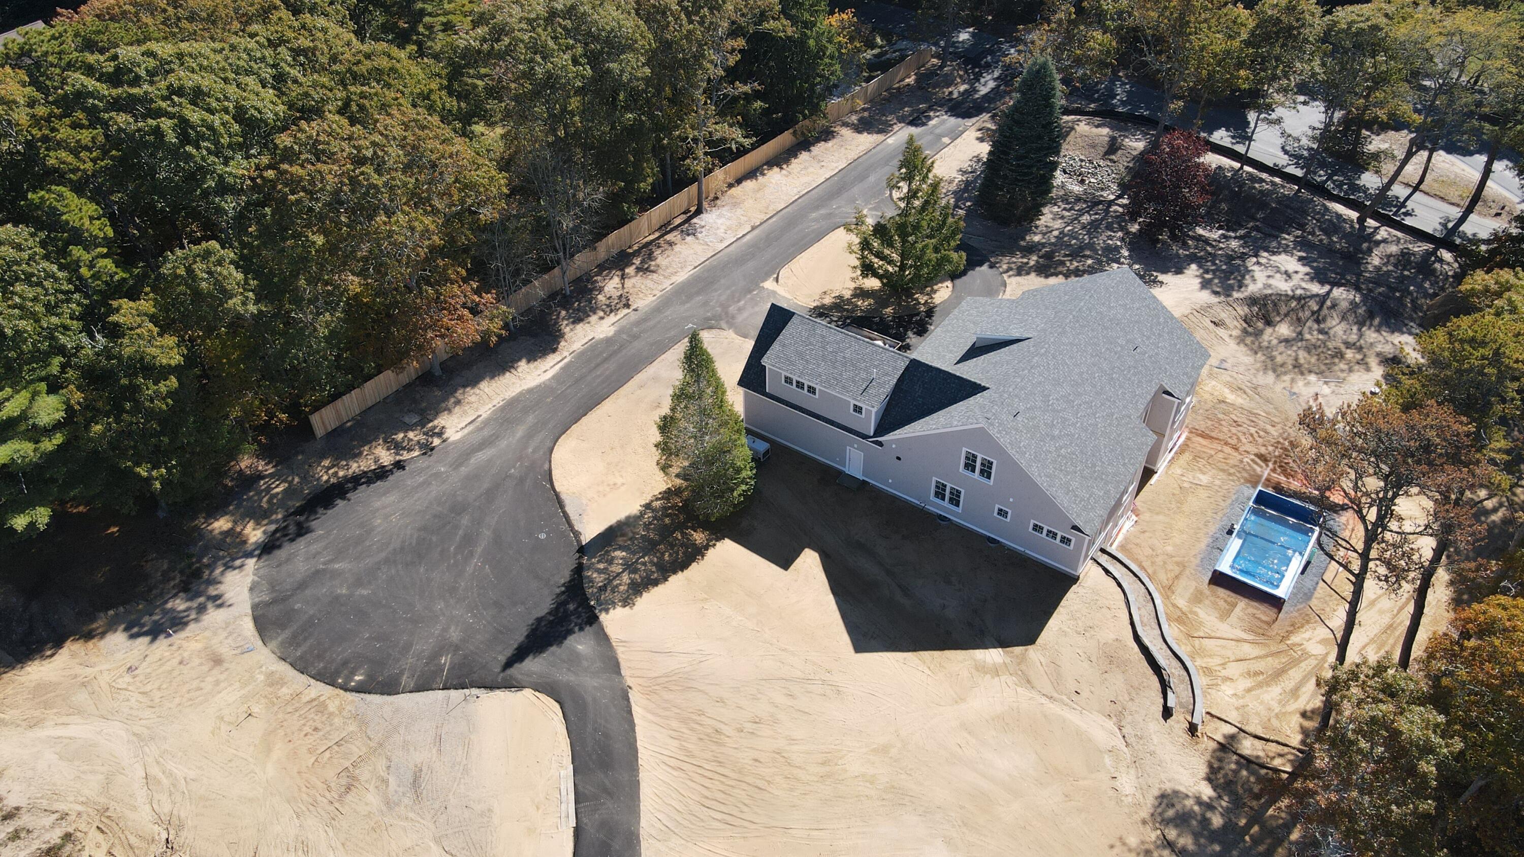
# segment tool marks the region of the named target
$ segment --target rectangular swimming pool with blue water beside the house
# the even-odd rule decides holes
[[[1213,572],[1285,601],[1317,549],[1320,520],[1306,503],[1257,489]]]

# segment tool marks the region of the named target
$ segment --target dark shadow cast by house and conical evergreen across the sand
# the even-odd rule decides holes
[[[541,654],[599,615],[634,605],[721,540],[779,569],[818,557],[853,651],[942,651],[1032,645],[1073,578],[986,543],[904,500],[774,447],[750,503],[713,526],[669,489],[587,540],[582,561],[503,668]]]

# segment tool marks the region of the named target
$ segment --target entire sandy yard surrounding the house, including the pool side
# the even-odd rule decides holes
[[[713,531],[684,525],[651,451],[674,351],[556,448],[596,461],[556,467],[556,488],[584,511],[588,590],[631,683],[652,854],[1289,848],[1294,819],[1269,772],[1295,753],[1234,724],[1305,740],[1347,583],[1329,570],[1311,604],[1282,613],[1209,586],[1205,552],[1295,413],[1369,389],[1454,265],[1216,160],[1219,197],[1198,233],[1148,244],[1116,185],[1146,131],[1068,130],[1044,217],[1007,230],[971,215],[969,239],[1007,296],[1132,265],[1212,351],[1190,435],[1120,546],[1163,590],[1202,672],[1204,735],[1161,720],[1120,595],[1094,567],[1064,586],[782,450],[744,512]],[[963,204],[986,146],[977,128],[939,157]],[[821,268],[843,264],[834,252]],[[733,381],[747,343],[707,340]],[[599,459],[614,427],[628,448]],[[1407,593],[1372,587],[1355,656],[1393,651],[1407,610]],[[1431,610],[1426,627],[1443,621]]]

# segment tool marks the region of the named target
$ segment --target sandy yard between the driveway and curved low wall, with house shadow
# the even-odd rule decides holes
[[[706,342],[735,381],[750,343]],[[677,523],[652,445],[680,351],[553,459],[631,686],[648,854],[1135,854],[1163,848],[1155,802],[1213,802],[1103,575],[786,450],[735,520]]]

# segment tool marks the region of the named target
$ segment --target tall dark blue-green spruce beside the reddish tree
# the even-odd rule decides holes
[[[1064,146],[1062,96],[1053,61],[1038,56],[1021,72],[1017,96],[1000,114],[985,160],[978,207],[995,223],[1035,218],[1053,192]]]

